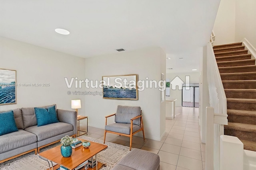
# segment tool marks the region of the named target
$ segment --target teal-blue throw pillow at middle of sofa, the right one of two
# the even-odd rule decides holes
[[[60,122],[57,118],[55,106],[48,108],[35,107],[37,126]]]

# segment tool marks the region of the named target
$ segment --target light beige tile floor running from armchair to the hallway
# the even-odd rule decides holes
[[[176,117],[166,119],[162,141],[132,138],[132,147],[148,150],[160,156],[160,170],[205,170],[205,145],[200,143],[198,108],[176,107]],[[80,128],[85,125],[80,122]],[[104,141],[104,129],[88,127],[88,137]],[[106,141],[130,145],[128,137],[107,133]]]

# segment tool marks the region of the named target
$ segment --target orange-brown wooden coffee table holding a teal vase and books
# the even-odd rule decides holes
[[[84,139],[79,139],[82,142],[86,141]],[[100,143],[91,142],[89,148],[84,148],[83,146],[77,147],[76,149],[72,149],[72,155],[68,158],[65,158],[61,155],[60,147],[61,145],[54,147],[52,149],[41,152],[39,155],[49,161],[56,162],[58,165],[54,166],[54,170],[58,169],[61,166],[68,168],[69,170],[74,170],[78,165],[82,164],[84,161],[92,158],[92,156],[96,156],[97,161],[97,153],[106,149],[108,146]],[[105,164],[98,162],[95,168],[89,168],[89,170],[98,170]]]

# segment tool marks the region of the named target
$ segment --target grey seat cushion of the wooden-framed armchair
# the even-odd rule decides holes
[[[139,129],[140,126],[134,124],[132,125],[132,133],[138,131]],[[112,123],[106,125],[105,130],[129,135],[131,132],[131,123]]]

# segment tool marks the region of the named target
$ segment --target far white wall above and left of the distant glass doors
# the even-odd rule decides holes
[[[190,76],[190,83],[199,83],[199,72],[183,72],[183,73],[167,73],[166,78],[172,81],[176,76],[185,82],[185,76]],[[172,90],[172,85],[170,85],[170,97],[172,99],[177,99],[175,102],[176,106],[182,106],[182,90]]]

